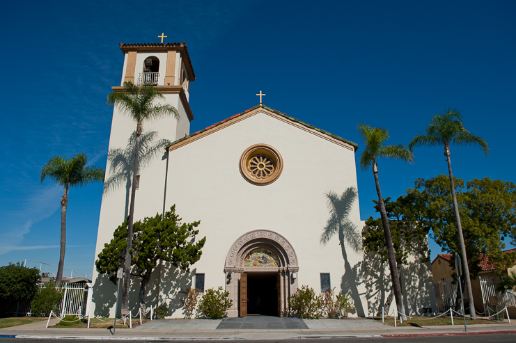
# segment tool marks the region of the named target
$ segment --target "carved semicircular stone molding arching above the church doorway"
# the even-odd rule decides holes
[[[224,271],[244,271],[247,253],[256,247],[270,248],[279,257],[281,266],[276,271],[298,271],[297,255],[292,244],[281,234],[270,230],[253,230],[242,234],[229,249]],[[260,269],[261,271],[268,271]],[[272,271],[272,270],[271,270]]]

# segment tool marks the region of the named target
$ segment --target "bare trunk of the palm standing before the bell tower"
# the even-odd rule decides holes
[[[141,123],[136,127],[136,140],[134,142],[134,168],[132,171],[131,205],[129,218],[127,219],[127,248],[125,249],[124,287],[122,291],[122,315],[129,311],[129,289],[131,287],[131,248],[132,248],[132,224],[134,221],[134,198],[136,197],[136,182],[138,173],[138,150],[140,145]]]

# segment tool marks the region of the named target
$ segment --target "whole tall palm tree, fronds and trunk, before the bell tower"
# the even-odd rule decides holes
[[[132,82],[124,82],[123,90],[114,90],[107,96],[107,104],[118,106],[121,112],[127,114],[136,122],[136,138],[134,139],[134,166],[132,172],[131,203],[129,218],[127,218],[127,249],[125,250],[124,282],[122,292],[122,314],[127,314],[129,304],[129,287],[131,278],[132,224],[134,222],[134,198],[136,196],[136,174],[139,165],[140,136],[143,122],[174,115],[179,118],[178,110],[170,104],[155,104],[156,100],[164,99],[162,93],[151,85],[136,86]]]

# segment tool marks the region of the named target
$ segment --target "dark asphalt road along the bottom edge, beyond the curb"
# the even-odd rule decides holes
[[[56,340],[52,340],[55,342]],[[107,340],[66,340],[61,339],[57,340],[58,342],[75,342],[75,343],[106,343]],[[219,342],[218,340],[210,340],[211,342]],[[114,341],[110,341],[114,342]],[[120,342],[120,341],[118,341]],[[153,341],[126,341],[123,340],[121,342],[153,342]],[[185,340],[171,340],[171,341],[154,341],[154,342],[170,342],[170,343],[187,343],[187,342],[207,342],[207,341],[185,341]],[[450,335],[450,336],[430,336],[430,337],[377,337],[377,338],[338,338],[338,339],[315,339],[315,340],[244,340],[244,341],[230,341],[230,342],[246,342],[246,343],[257,343],[257,342],[267,342],[267,343],[355,343],[355,342],[385,342],[385,343],[393,343],[393,342],[424,342],[424,343],[476,343],[476,342],[496,342],[496,343],[514,343],[516,342],[516,334],[489,334],[489,335]],[[49,343],[49,340],[32,340],[30,338],[3,338],[0,337],[0,343]]]

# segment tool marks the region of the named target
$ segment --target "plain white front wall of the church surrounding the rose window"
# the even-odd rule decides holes
[[[267,186],[247,182],[238,168],[242,152],[257,143],[272,145],[283,157],[283,173]],[[325,193],[356,186],[352,150],[258,113],[170,152],[166,208],[175,203],[185,222],[201,220],[200,237],[207,242],[194,267],[205,273],[205,289],[225,285],[224,262],[235,239],[265,229],[295,248],[299,286],[320,292],[320,273],[330,273],[338,292],[344,274],[338,234],[320,244],[330,216]],[[358,200],[350,220],[361,230]],[[360,253],[347,255],[351,266],[362,260]]]

